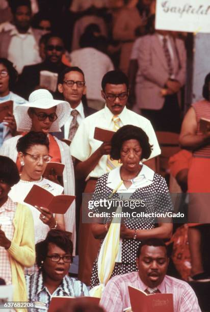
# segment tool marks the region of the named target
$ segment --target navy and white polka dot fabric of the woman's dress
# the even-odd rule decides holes
[[[97,181],[93,199],[104,198],[104,194],[110,195],[113,190],[107,186],[109,173],[103,174]],[[119,194],[113,194],[113,198],[119,199]],[[168,191],[168,187],[165,179],[155,173],[153,177],[153,183],[149,186],[145,186],[137,189],[133,194],[130,194],[130,199],[144,200],[145,213],[165,213],[173,211],[173,205],[171,197]],[[99,209],[95,209],[99,212]],[[137,211],[137,210],[135,210]],[[138,211],[137,211],[138,212]],[[132,213],[132,211],[130,211]],[[103,223],[108,220],[103,219]],[[131,229],[152,229],[154,227],[154,218],[126,218],[124,224],[127,228]],[[136,267],[136,254],[140,241],[134,239],[123,239],[122,240],[122,262],[116,263],[112,272],[112,277],[115,275],[130,273],[138,271]],[[102,242],[101,242],[102,244]],[[92,277],[91,277],[91,288],[99,283],[97,274],[97,259],[94,262]]]

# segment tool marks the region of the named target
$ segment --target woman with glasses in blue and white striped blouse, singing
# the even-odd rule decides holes
[[[44,241],[36,245],[36,262],[39,272],[25,276],[29,301],[37,308],[48,309],[51,297],[89,296],[80,280],[68,276],[73,245],[64,231],[49,231]]]

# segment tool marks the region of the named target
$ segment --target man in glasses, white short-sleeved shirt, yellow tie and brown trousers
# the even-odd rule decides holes
[[[110,171],[111,144],[110,142],[101,144],[94,139],[95,127],[117,131],[126,124],[139,126],[146,132],[149,143],[153,145],[150,158],[154,158],[161,152],[150,121],[125,107],[129,94],[127,76],[121,71],[109,71],[103,76],[101,86],[101,95],[106,100],[105,108],[82,121],[70,146],[71,155],[76,159],[75,174],[77,177],[84,177],[87,181],[85,193],[92,193],[97,179]],[[151,165],[151,162],[148,161],[147,164]],[[81,224],[79,240],[79,277],[89,284],[92,265],[99,246],[97,240],[93,238],[89,224]]]

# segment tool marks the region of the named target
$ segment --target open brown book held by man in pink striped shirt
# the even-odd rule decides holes
[[[173,312],[173,294],[149,294],[128,286],[133,312]]]

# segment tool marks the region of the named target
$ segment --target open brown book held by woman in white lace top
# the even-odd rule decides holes
[[[65,214],[75,197],[70,195],[54,196],[38,185],[34,185],[24,202],[32,206],[46,207],[54,214]]]

